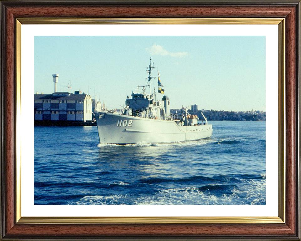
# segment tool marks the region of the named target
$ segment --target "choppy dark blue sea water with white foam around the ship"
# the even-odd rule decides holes
[[[210,121],[210,139],[99,144],[96,126],[34,127],[34,204],[264,205],[265,121]]]

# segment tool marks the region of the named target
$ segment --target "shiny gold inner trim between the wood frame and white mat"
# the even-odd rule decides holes
[[[21,25],[22,24],[273,24],[278,25],[279,165],[278,217],[22,217],[21,216]],[[285,20],[284,18],[17,18],[16,19],[16,222],[28,224],[75,223],[284,223],[285,222]]]

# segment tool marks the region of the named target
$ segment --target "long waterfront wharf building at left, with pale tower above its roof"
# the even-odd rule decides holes
[[[75,91],[56,92],[57,74],[52,75],[55,83],[53,94],[34,95],[35,122],[86,122],[92,121],[92,98],[87,94]]]

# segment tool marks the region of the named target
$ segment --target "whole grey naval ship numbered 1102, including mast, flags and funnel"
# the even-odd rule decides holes
[[[123,113],[102,111],[96,113],[96,123],[100,143],[107,144],[136,144],[136,143],[172,143],[200,140],[212,135],[212,125],[198,123],[196,115],[189,115],[182,109],[179,115],[170,115],[169,97],[164,95],[162,100],[156,100],[156,91],[151,93],[151,72],[154,63],[147,67],[147,84],[137,86],[138,92],[132,92],[125,100]],[[158,72],[158,92],[164,89]],[[142,90],[139,91],[139,88]],[[112,112],[112,111],[111,111]]]

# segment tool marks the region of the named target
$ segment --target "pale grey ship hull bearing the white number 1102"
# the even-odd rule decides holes
[[[98,113],[100,143],[135,144],[185,142],[209,138],[212,125],[178,126],[175,121],[154,120],[128,115]]]

